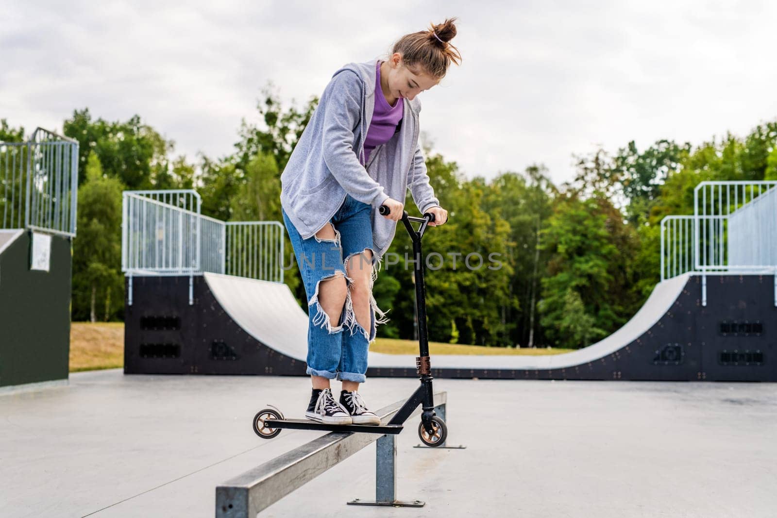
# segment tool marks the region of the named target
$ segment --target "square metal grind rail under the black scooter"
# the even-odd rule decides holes
[[[447,392],[435,392],[434,411],[444,415]],[[399,412],[405,401],[381,408],[382,424]],[[420,415],[418,406],[410,417]],[[396,436],[377,433],[331,432],[275,457],[216,487],[217,518],[253,518],[263,509],[301,488],[357,451],[376,443],[375,500],[354,499],[350,505],[413,506],[424,502],[396,499]],[[444,447],[444,446],[441,446]]]

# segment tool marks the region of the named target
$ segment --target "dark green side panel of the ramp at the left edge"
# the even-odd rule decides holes
[[[68,379],[71,240],[52,236],[44,272],[30,269],[30,236],[0,253],[0,386]]]

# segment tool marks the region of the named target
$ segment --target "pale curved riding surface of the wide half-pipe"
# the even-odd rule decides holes
[[[600,342],[572,353],[542,356],[437,355],[435,369],[563,369],[599,360],[638,339],[671,308],[690,274],[658,283],[647,301],[621,329]],[[205,281],[227,314],[249,335],[294,360],[305,361],[308,315],[284,283],[205,273]],[[369,353],[369,366],[413,368],[416,356]]]

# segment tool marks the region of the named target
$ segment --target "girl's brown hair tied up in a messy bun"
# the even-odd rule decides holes
[[[433,78],[443,78],[451,61],[455,64],[462,62],[462,54],[448,43],[456,36],[455,21],[455,17],[446,19],[438,25],[430,24],[429,30],[406,34],[394,43],[392,54],[402,54],[407,68],[420,67]]]

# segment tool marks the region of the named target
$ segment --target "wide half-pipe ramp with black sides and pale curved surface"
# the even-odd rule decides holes
[[[539,356],[432,355],[432,375],[777,381],[775,363],[768,360],[777,344],[768,341],[765,331],[768,322],[777,322],[774,277],[706,277],[686,273],[658,283],[625,325],[591,346]],[[135,302],[125,318],[125,373],[305,376],[308,315],[286,284],[219,273],[133,279]],[[706,306],[701,303],[703,282]],[[154,328],[150,321],[178,323]],[[761,327],[747,324],[745,329],[743,322],[761,322]],[[148,353],[149,348],[157,348],[156,353]],[[416,356],[371,352],[371,376],[417,377]]]

